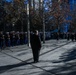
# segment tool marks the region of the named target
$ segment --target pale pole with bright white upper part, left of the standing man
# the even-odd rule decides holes
[[[27,3],[27,37],[28,37],[28,46],[30,46],[29,2]]]

